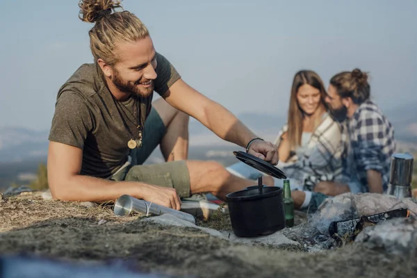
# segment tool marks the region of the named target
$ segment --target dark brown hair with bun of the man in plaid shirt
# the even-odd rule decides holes
[[[368,74],[359,69],[336,74],[330,79],[330,84],[336,88],[339,96],[350,97],[354,104],[361,104],[370,97]]]

